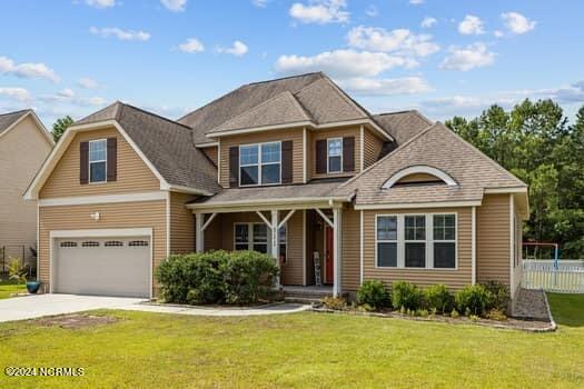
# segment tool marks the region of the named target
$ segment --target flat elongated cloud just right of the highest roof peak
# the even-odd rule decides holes
[[[432,87],[420,77],[366,78],[338,80],[342,88],[362,96],[416,94],[430,92]]]

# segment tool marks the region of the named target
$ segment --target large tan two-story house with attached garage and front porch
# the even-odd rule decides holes
[[[521,279],[527,187],[416,111],[323,73],[246,84],[178,121],[116,102],[71,126],[26,197],[52,292],[156,295],[170,253],[253,249],[284,286]]]

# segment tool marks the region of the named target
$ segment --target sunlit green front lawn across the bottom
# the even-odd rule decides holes
[[[116,323],[0,325],[0,367],[83,367],[83,377],[11,378],[0,388],[582,388],[584,296],[551,296],[560,330],[344,315],[201,318],[99,311]]]

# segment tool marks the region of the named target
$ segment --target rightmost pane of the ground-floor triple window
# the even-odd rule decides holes
[[[434,215],[434,267],[456,268],[456,217]]]

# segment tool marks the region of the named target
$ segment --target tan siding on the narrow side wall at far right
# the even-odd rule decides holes
[[[476,217],[476,279],[509,285],[509,194],[486,194]]]

